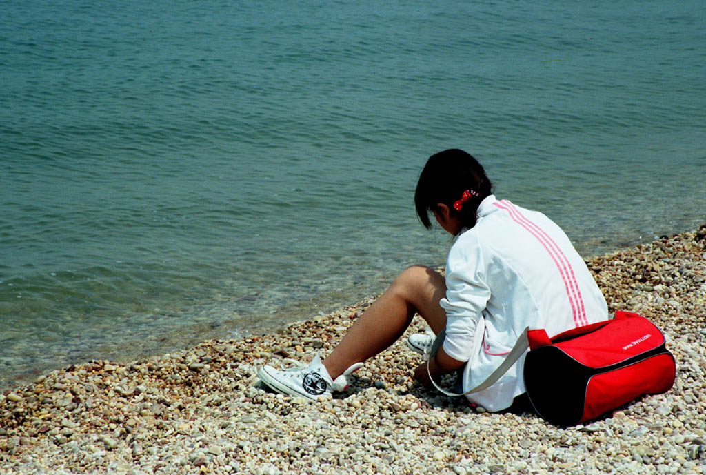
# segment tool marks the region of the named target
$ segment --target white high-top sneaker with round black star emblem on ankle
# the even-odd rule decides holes
[[[258,377],[277,392],[316,401],[318,397],[332,395],[334,391],[347,390],[350,375],[363,366],[363,363],[350,366],[335,380],[328,375],[318,354],[314,356],[309,366],[302,363],[298,365],[284,370],[265,365],[258,370]]]

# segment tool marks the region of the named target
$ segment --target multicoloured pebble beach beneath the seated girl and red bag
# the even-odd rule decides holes
[[[669,392],[559,428],[425,390],[402,340],[333,399],[258,384],[265,363],[328,354],[371,296],[267,335],[88,361],[7,390],[0,474],[706,474],[706,225],[586,262],[611,313],[666,335]],[[408,332],[423,330],[416,318]]]

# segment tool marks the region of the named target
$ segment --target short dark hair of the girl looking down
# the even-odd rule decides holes
[[[492,194],[492,188],[481,164],[463,150],[452,148],[429,157],[419,175],[414,205],[427,229],[431,228],[429,211],[435,211],[438,203],[447,205],[452,216],[459,215],[463,227],[472,228],[476,225],[478,206]],[[472,196],[457,211],[453,203],[461,199],[465,190],[475,191],[478,196]]]

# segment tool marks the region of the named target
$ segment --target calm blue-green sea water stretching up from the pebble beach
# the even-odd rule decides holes
[[[460,147],[584,255],[706,222],[702,1],[0,1],[0,387],[354,303]]]

